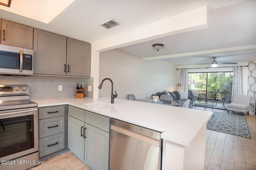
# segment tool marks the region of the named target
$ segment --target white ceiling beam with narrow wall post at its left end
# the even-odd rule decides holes
[[[207,27],[208,8],[204,6],[92,42],[91,77],[94,78],[93,97],[100,97],[99,90],[96,87],[100,79],[99,52]]]

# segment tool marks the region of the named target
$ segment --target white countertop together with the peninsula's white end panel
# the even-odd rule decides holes
[[[57,98],[33,100],[38,107],[70,106],[160,131],[163,140],[162,169],[204,169],[206,123],[212,111],[110,98]],[[92,104],[95,103],[95,104]],[[86,105],[85,105],[86,104]]]

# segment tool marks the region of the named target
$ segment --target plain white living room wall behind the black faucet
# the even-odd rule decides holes
[[[118,98],[134,94],[138,99],[148,99],[156,92],[176,89],[176,66],[165,61],[142,61],[142,58],[117,50],[100,52],[99,84],[110,78]],[[95,86],[97,86],[95,84]],[[110,97],[111,83],[106,80],[99,97]]]

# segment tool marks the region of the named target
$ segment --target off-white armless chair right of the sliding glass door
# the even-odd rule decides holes
[[[234,95],[232,97],[232,101],[227,106],[228,113],[229,111],[237,111],[246,113],[249,115],[250,111],[250,101],[252,96],[246,96],[246,95]]]

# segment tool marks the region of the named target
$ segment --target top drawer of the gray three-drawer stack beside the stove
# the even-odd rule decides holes
[[[63,116],[65,114],[65,106],[39,107],[39,119]]]

